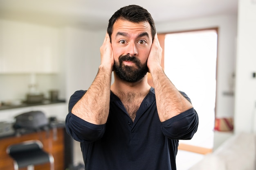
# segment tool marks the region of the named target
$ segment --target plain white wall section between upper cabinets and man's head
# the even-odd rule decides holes
[[[77,90],[87,90],[100,65],[100,46],[106,31],[86,31],[63,28],[63,51],[65,57],[66,99]]]

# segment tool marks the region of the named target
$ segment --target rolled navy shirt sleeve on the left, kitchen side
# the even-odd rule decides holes
[[[100,139],[105,132],[105,124],[96,125],[75,116],[71,113],[72,108],[80,100],[86,91],[76,91],[69,101],[65,126],[67,133],[78,142],[90,143]]]

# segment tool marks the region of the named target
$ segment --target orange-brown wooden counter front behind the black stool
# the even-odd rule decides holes
[[[27,140],[36,139],[43,143],[44,150],[54,157],[54,170],[65,170],[65,165],[69,162],[67,158],[69,151],[65,148],[65,138],[67,138],[65,127],[49,129],[46,131],[32,132],[23,135],[14,135],[0,138],[0,170],[14,170],[13,159],[6,153],[6,149],[11,144],[17,144]],[[70,159],[70,160],[68,160]],[[50,164],[35,166],[35,170],[49,170]],[[26,170],[21,168],[20,170]]]

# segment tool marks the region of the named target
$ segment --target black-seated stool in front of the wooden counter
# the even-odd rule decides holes
[[[43,150],[39,140],[29,140],[7,147],[6,152],[13,158],[14,169],[27,167],[34,169],[35,165],[50,163],[50,170],[54,170],[54,158]]]

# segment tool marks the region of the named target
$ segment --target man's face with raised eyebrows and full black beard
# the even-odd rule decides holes
[[[114,70],[124,81],[140,81],[148,72],[147,59],[152,45],[148,22],[117,20],[113,25]]]

